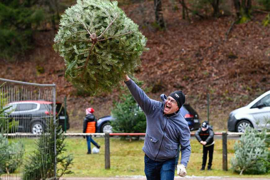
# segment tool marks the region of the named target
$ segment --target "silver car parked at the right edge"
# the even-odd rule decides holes
[[[250,102],[247,106],[233,110],[228,119],[228,130],[245,132],[247,126],[270,129],[270,91]]]

